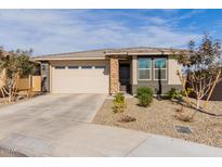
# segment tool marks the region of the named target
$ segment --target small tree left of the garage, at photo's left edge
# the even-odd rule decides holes
[[[21,77],[34,73],[35,65],[30,62],[30,51],[11,51],[5,52],[0,49],[0,72],[2,72],[1,92],[8,98],[8,102],[15,100],[17,92],[17,82]]]

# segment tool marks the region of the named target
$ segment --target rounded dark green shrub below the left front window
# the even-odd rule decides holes
[[[149,87],[140,87],[136,97],[141,106],[148,106],[153,102],[154,91]]]

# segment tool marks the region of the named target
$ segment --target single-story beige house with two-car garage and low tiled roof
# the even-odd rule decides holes
[[[172,49],[104,49],[36,56],[41,62],[43,88],[52,93],[135,93],[141,86],[165,93],[181,88]]]

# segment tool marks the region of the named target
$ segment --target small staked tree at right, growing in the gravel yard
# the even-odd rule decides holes
[[[181,84],[185,90],[188,84],[196,98],[197,110],[200,108],[200,100],[207,97],[204,107],[207,105],[216,84],[221,78],[221,43],[205,35],[199,47],[194,41],[188,44],[187,51],[181,51],[175,55],[179,63],[183,64],[184,73],[178,72]],[[188,93],[185,90],[186,101],[191,104]],[[192,104],[191,104],[192,105]]]

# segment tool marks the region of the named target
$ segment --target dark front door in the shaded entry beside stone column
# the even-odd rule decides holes
[[[120,91],[130,90],[130,64],[119,64]]]

